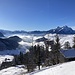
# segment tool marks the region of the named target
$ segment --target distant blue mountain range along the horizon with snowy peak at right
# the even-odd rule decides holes
[[[50,29],[48,31],[8,31],[8,30],[0,30],[2,34],[20,34],[20,33],[26,33],[26,34],[48,34],[48,33],[57,33],[57,34],[75,34],[75,30],[73,30],[71,27],[63,26],[63,27],[57,27],[55,29]]]

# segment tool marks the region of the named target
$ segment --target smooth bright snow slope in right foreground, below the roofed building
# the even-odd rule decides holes
[[[29,75],[75,75],[75,61],[49,67],[39,72],[33,72]]]

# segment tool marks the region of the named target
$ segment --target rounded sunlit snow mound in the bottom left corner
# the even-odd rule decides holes
[[[23,75],[25,74],[25,72],[27,72],[27,70],[22,67],[16,66],[1,70],[0,75]]]

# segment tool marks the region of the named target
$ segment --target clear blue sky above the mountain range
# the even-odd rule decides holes
[[[0,29],[75,28],[75,0],[0,0]]]

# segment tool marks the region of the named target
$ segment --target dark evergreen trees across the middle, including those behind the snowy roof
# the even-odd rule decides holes
[[[31,46],[29,52],[23,54],[20,52],[18,56],[18,60],[20,64],[26,65],[28,72],[33,71],[36,67],[40,70],[40,66],[50,66],[59,64],[59,55],[60,55],[60,39],[59,36],[56,35],[55,42],[53,44],[45,43],[44,46]],[[49,51],[49,45],[51,46],[51,51]],[[64,44],[65,49],[70,49],[70,43],[67,41]],[[75,37],[73,38],[73,47],[75,48]]]

